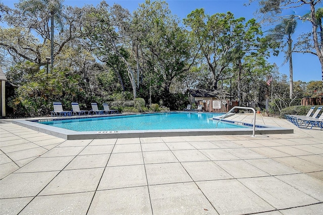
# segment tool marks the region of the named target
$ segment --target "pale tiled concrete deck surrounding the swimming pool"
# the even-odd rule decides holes
[[[323,130],[256,122],[294,133],[66,140],[0,120],[0,214],[323,214]]]

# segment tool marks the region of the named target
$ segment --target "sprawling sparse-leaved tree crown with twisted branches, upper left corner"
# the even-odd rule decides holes
[[[9,26],[9,28],[0,27],[0,47],[10,54],[15,62],[28,60],[39,67],[46,65],[45,57],[50,55],[51,50],[53,50],[52,58],[55,58],[67,43],[84,36],[79,28],[82,26],[80,23],[82,10],[63,7],[58,11],[57,5],[62,1],[47,1],[51,2],[48,6],[44,4],[45,0],[23,0],[15,5],[17,9],[10,9],[0,3],[0,11],[4,13],[0,21],[6,22]],[[50,15],[49,9],[52,10],[53,16]],[[63,29],[56,40],[50,36],[55,32],[54,29],[50,30],[50,17],[57,18],[56,21],[60,24],[54,28]],[[53,24],[52,22],[51,25]],[[53,48],[50,48],[51,42]]]

